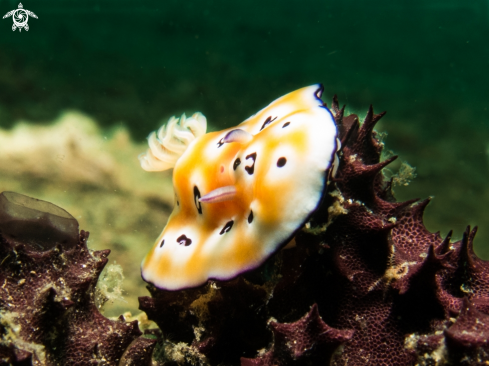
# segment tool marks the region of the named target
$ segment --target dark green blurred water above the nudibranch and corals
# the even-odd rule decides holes
[[[0,1],[0,13],[17,5]],[[418,173],[397,196],[434,196],[425,220],[442,235],[479,225],[489,258],[487,0],[23,5],[39,17],[28,32],[0,21],[0,128],[76,109],[143,141],[173,114],[229,127],[322,82],[324,100],[338,94],[350,112],[388,111],[387,149]]]

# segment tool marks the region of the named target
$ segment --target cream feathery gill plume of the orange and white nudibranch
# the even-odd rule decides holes
[[[171,169],[190,143],[205,135],[207,119],[200,113],[187,118],[171,117],[166,125],[148,136],[149,149],[139,155],[141,167],[147,171]]]

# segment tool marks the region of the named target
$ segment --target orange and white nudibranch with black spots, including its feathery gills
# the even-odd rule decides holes
[[[339,148],[321,85],[275,100],[236,127],[170,119],[149,136],[143,169],[172,167],[175,204],[142,262],[158,288],[196,287],[260,266],[319,205]]]

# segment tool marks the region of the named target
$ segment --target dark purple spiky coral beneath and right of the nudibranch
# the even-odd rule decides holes
[[[428,200],[396,202],[373,131],[383,114],[335,117],[338,173],[311,221],[261,268],[170,292],[140,308],[179,365],[483,365],[488,264],[472,243],[423,225]]]

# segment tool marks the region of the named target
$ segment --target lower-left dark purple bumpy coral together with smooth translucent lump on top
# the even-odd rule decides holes
[[[0,365],[150,364],[155,340],[139,337],[137,321],[99,313],[109,251],[90,251],[87,238],[59,207],[0,194]]]

